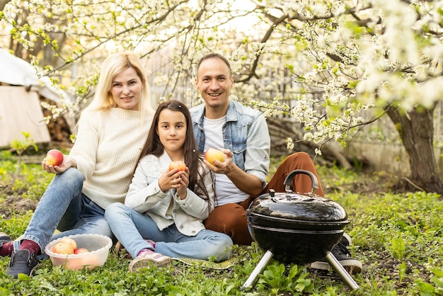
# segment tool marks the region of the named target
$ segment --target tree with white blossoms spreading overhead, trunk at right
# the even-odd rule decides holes
[[[289,114],[304,125],[304,140],[345,143],[376,120],[364,121],[362,111],[388,116],[410,156],[411,183],[443,193],[433,141],[443,97],[442,7],[442,0],[3,0],[0,42],[56,83],[92,73],[77,76],[69,108],[88,97],[98,69],[91,61],[105,52],[166,55],[156,83],[164,96],[181,93],[190,103],[195,62],[222,52],[239,99],[270,116]],[[263,93],[272,96],[263,101]],[[290,105],[282,101],[288,96]]]

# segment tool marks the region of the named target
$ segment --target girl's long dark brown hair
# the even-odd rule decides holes
[[[197,195],[205,195],[205,199],[209,199],[209,194],[203,183],[203,176],[201,175],[198,166],[202,163],[203,154],[197,150],[197,144],[195,143],[194,132],[192,130],[192,120],[188,107],[185,103],[177,100],[169,100],[159,104],[159,107],[154,114],[151,128],[149,129],[148,138],[140,154],[139,161],[147,154],[153,154],[157,157],[161,156],[164,151],[163,144],[160,142],[160,137],[157,135],[156,129],[159,125],[159,118],[161,111],[169,109],[172,111],[178,111],[185,115],[186,120],[186,137],[183,143],[183,153],[185,154],[185,164],[189,168],[189,185],[188,188]]]

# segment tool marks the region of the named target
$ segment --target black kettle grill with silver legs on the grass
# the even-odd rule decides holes
[[[312,192],[299,194],[290,189],[292,178],[304,173],[311,177]],[[284,180],[286,193],[260,195],[246,210],[251,237],[267,250],[249,276],[242,290],[251,287],[272,257],[284,263],[304,265],[326,258],[334,271],[352,289],[359,286],[330,253],[343,237],[349,224],[345,209],[314,193],[316,176],[310,171],[294,170]]]

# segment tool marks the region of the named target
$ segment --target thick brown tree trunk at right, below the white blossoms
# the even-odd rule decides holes
[[[410,181],[415,189],[443,193],[442,181],[437,171],[433,136],[434,109],[414,108],[408,113],[404,110],[386,106],[386,113],[397,127],[403,146],[409,156]]]

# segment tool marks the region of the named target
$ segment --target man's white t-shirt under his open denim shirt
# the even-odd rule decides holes
[[[210,147],[223,150],[223,132],[222,127],[226,121],[226,115],[218,119],[204,119],[205,127],[205,152]],[[215,173],[215,206],[225,205],[226,203],[241,203],[249,197],[248,194],[238,189],[234,183],[224,174]]]

